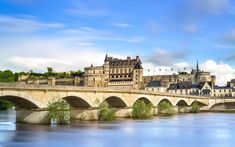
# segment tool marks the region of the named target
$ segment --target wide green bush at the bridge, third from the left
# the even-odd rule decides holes
[[[149,118],[153,116],[153,105],[146,104],[143,100],[137,100],[132,107],[133,118]]]

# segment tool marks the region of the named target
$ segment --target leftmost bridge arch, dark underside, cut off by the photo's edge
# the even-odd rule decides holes
[[[39,109],[44,107],[36,99],[23,92],[4,91],[0,93],[0,99],[11,102],[19,109]]]

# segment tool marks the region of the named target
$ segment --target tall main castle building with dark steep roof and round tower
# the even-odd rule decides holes
[[[85,68],[84,86],[139,89],[143,80],[143,68],[139,56],[118,59],[105,56],[102,66]]]

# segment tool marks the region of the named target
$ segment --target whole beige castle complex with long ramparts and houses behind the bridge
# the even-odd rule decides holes
[[[142,62],[139,56],[118,59],[107,54],[102,66],[85,67],[85,73],[80,77],[32,79],[19,78],[20,83],[49,84],[85,87],[110,87],[119,89],[140,89],[156,92],[168,92],[183,95],[202,95],[214,97],[235,96],[235,80],[227,86],[216,86],[216,77],[210,72],[196,68],[191,72],[179,72],[172,75],[144,76]]]

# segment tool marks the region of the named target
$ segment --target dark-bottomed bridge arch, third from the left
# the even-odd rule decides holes
[[[125,108],[128,106],[127,103],[122,98],[117,97],[117,96],[109,96],[105,98],[103,102],[107,102],[110,107],[114,107],[114,108]]]

